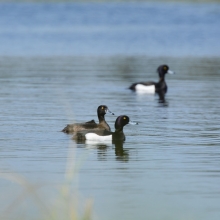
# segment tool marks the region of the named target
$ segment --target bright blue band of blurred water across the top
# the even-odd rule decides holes
[[[0,55],[219,56],[219,4],[1,4]]]

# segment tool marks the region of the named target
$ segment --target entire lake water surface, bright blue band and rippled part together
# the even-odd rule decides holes
[[[74,166],[93,219],[219,220],[219,22],[218,4],[1,4],[0,218],[39,219],[24,185],[50,204]],[[127,89],[163,63],[164,102]],[[60,132],[101,104],[139,122],[123,145]]]

